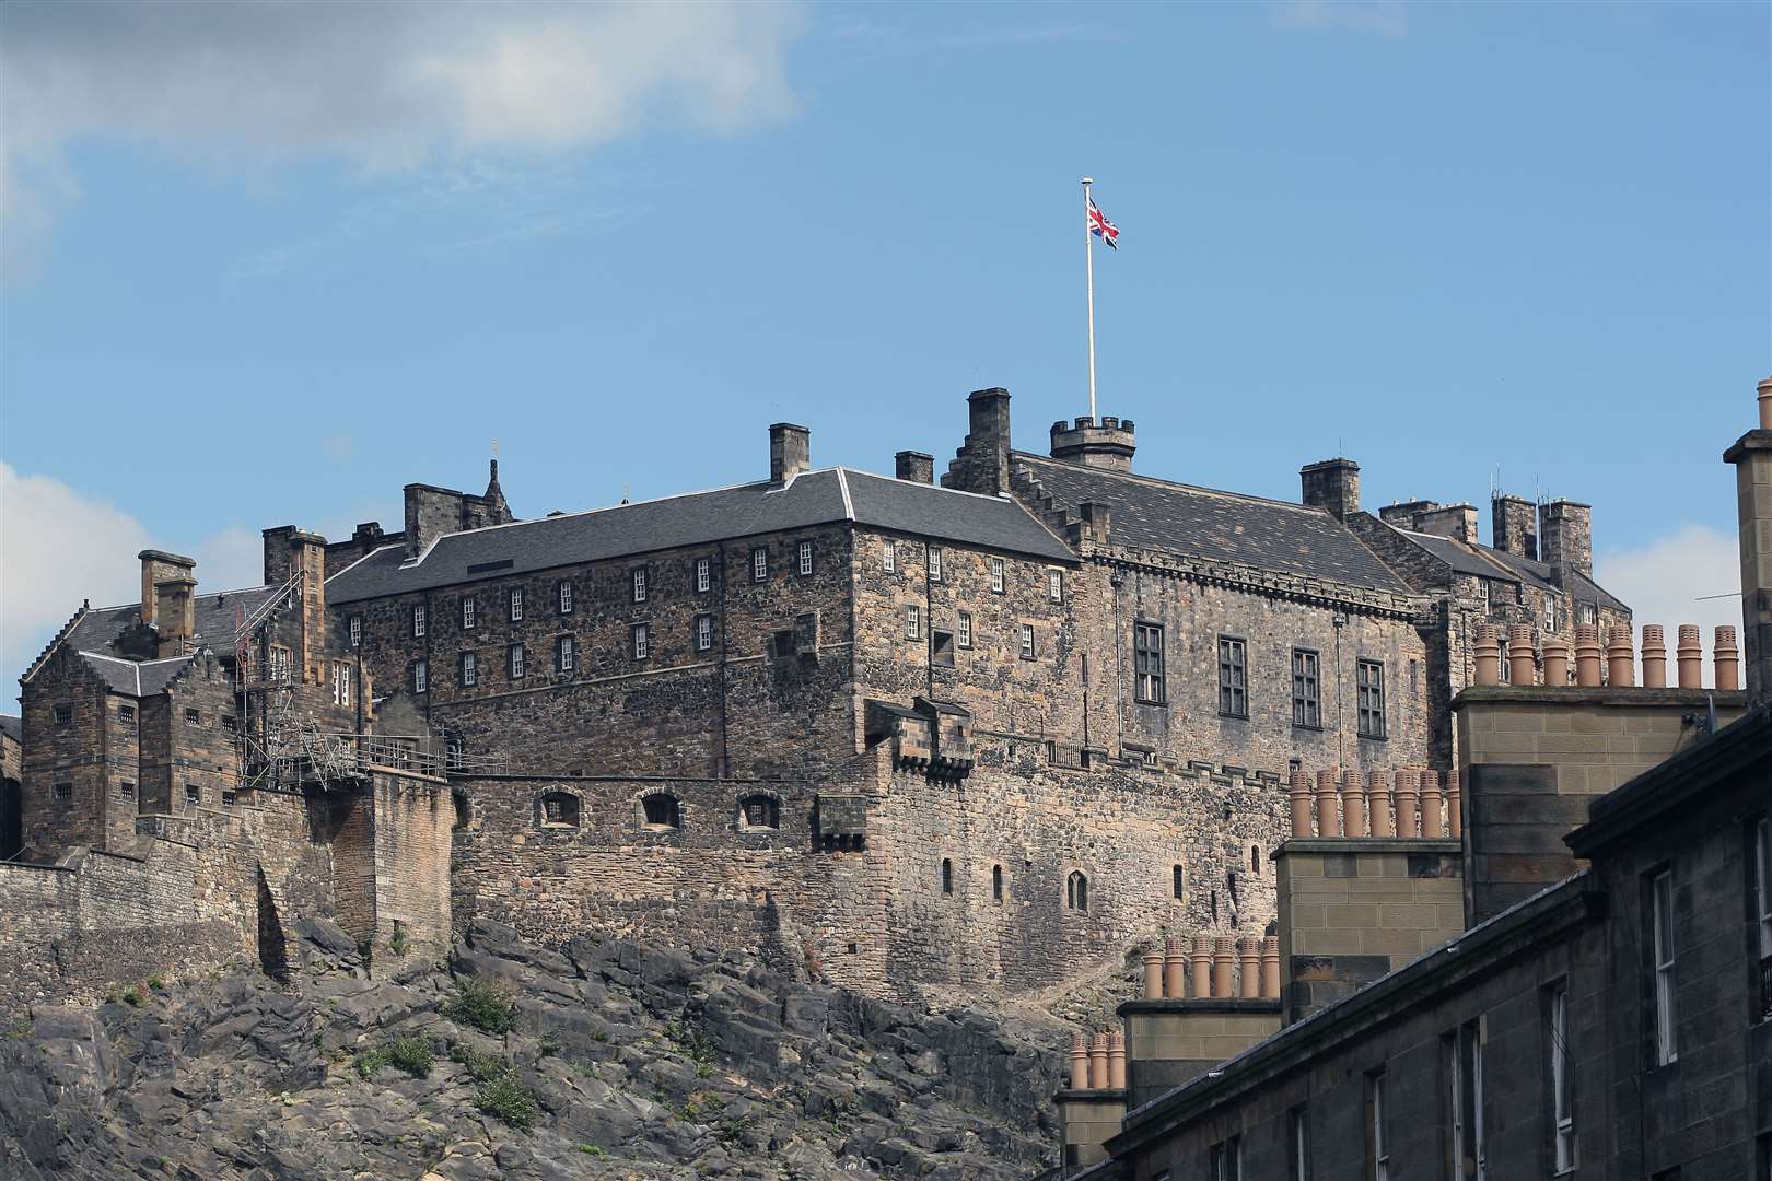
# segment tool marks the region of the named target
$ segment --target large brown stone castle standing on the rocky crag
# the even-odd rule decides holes
[[[1116,418],[1019,452],[980,390],[939,483],[909,450],[813,467],[778,423],[767,478],[656,501],[517,521],[496,460],[478,496],[406,485],[397,533],[266,529],[250,590],[144,551],[142,600],[21,678],[0,905],[37,917],[0,986],[168,933],[275,970],[324,912],[377,951],[484,914],[1040,988],[1260,935],[1292,772],[1448,768],[1480,629],[1630,623],[1586,505],[1496,498],[1481,545],[1469,505],[1364,512],[1348,459],[1285,503],[1134,453]]]

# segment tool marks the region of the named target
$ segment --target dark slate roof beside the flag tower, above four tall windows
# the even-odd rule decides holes
[[[1028,452],[1015,452],[1014,462],[1070,508],[1084,501],[1106,505],[1116,542],[1409,591],[1347,526],[1320,508],[1102,471]]]

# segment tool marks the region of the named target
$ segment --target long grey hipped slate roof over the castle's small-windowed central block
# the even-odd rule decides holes
[[[767,482],[741,483],[448,533],[415,563],[404,561],[400,545],[385,545],[326,579],[326,602],[379,598],[838,521],[1076,561],[1076,554],[1015,501],[824,467],[783,489],[771,489]]]

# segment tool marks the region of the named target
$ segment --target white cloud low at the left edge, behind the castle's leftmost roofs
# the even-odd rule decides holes
[[[7,678],[0,705],[7,712],[18,676],[83,598],[94,607],[140,600],[136,554],[149,547],[154,538],[128,512],[0,462],[0,675]],[[191,556],[202,591],[257,586],[262,575],[259,535],[246,529],[222,529]]]

